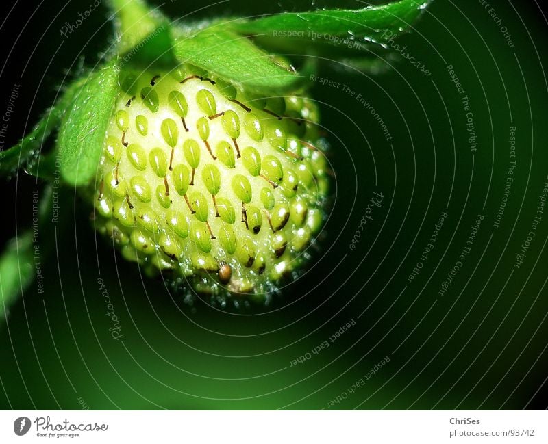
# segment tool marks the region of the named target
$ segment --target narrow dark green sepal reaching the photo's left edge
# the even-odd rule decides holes
[[[21,142],[6,151],[0,151],[0,176],[13,174],[40,151],[42,144],[58,127],[66,108],[73,99],[76,86],[77,84],[71,86],[62,94],[58,103],[48,110],[38,125]]]

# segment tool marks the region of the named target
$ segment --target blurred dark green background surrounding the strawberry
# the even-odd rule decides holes
[[[51,104],[66,70],[82,60],[95,64],[107,46],[111,23],[104,6],[68,39],[59,35],[64,22],[73,23],[91,3],[64,7],[50,0],[34,10],[19,2],[8,16],[1,29],[0,109],[13,84],[21,83],[11,142]],[[316,265],[266,311],[184,306],[162,280],[141,278],[138,268],[96,239],[88,207],[69,191],[60,211],[66,224],[40,233],[53,240],[43,270],[45,294],[29,288],[0,327],[0,407],[78,409],[80,397],[92,409],[319,409],[346,392],[331,408],[546,408],[548,211],[523,265],[513,265],[548,181],[547,23],[533,2],[490,3],[515,49],[479,1],[436,0],[416,30],[399,40],[430,77],[406,60],[390,62],[392,68],[377,76],[335,62],[321,66],[318,75],[371,102],[392,145],[355,99],[312,85],[332,142],[334,206],[314,252]],[[183,1],[163,9],[173,17],[192,12]],[[192,18],[279,10],[275,2],[231,0]],[[470,99],[475,155],[448,64]],[[515,180],[495,229],[510,126],[516,126]],[[29,224],[35,187],[23,175],[2,183],[5,239]],[[382,192],[384,202],[351,251],[373,191]],[[446,207],[435,249],[408,284]],[[449,291],[438,296],[478,213],[485,219],[471,254]],[[121,341],[108,331],[99,277],[120,318]],[[350,319],[356,326],[331,347],[290,367]],[[348,394],[385,356],[390,363]]]

